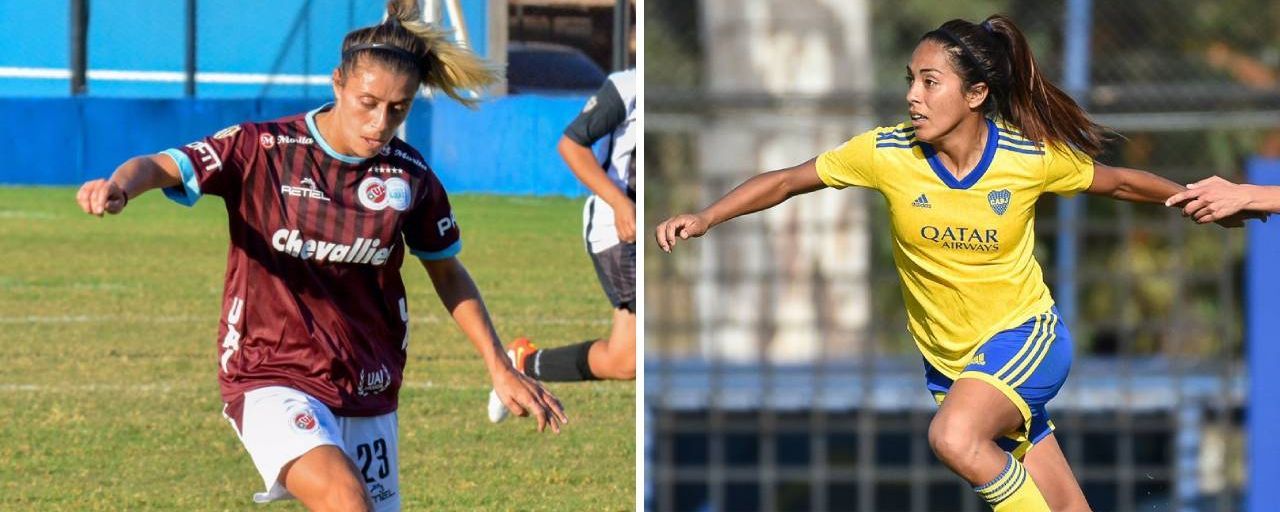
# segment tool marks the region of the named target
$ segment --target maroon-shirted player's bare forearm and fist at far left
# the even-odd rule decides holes
[[[76,193],[76,202],[86,214],[102,216],[119,214],[129,198],[152,188],[182,183],[178,164],[164,155],[134,156],[120,164],[109,179],[84,182]]]

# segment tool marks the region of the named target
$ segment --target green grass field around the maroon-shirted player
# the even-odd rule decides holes
[[[608,332],[580,200],[456,196],[467,265],[504,339]],[[0,509],[301,509],[255,506],[261,480],[221,417],[221,200],[148,193],[119,216],[73,188],[0,187]],[[553,384],[570,425],[490,425],[488,375],[404,269],[412,315],[401,392],[404,509],[631,509],[632,383]]]

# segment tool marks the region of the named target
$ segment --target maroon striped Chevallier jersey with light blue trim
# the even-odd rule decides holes
[[[230,250],[218,330],[223,401],[287,385],[339,416],[396,410],[408,344],[401,264],[461,250],[449,200],[403,141],[340,155],[315,114],[244,123],[168,150],[182,186],[227,204]],[[238,416],[238,415],[236,415]]]

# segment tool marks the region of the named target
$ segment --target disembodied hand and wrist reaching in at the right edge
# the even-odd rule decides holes
[[[1183,215],[1197,223],[1213,223],[1242,211],[1280,214],[1280,187],[1231,183],[1221,177],[1208,177],[1187,186],[1165,201],[1165,206],[1181,205]]]

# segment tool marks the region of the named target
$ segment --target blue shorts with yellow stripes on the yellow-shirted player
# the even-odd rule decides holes
[[[997,443],[1021,458],[1053,431],[1044,404],[1057,396],[1070,370],[1071,334],[1053,307],[991,337],[978,347],[959,379],[982,380],[1014,402],[1023,413],[1023,428]],[[924,380],[933,399],[942,404],[954,381],[928,362],[924,364]]]

